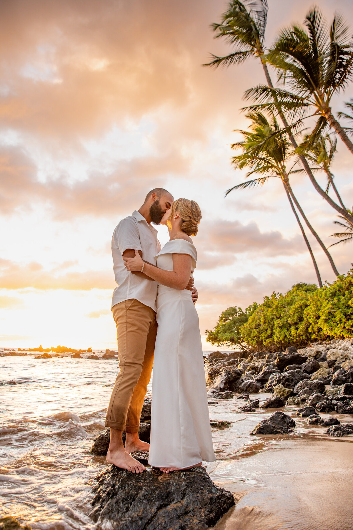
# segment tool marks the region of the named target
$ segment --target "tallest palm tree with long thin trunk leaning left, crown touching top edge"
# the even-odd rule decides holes
[[[240,64],[251,56],[259,58],[264,70],[268,89],[271,91],[270,93],[275,101],[274,110],[278,112],[284,127],[288,131],[292,146],[296,149],[298,145],[292,134],[292,128],[289,127],[278,102],[277,89],[274,89],[266,64],[264,38],[267,11],[267,0],[243,0],[243,2],[232,0],[228,10],[222,15],[222,22],[220,24],[212,24],[211,28],[216,32],[215,38],[225,38],[234,48],[234,51],[224,57],[212,55],[212,61],[205,66],[229,66],[232,64]],[[345,211],[320,187],[303,154],[300,154],[300,160],[316,191],[329,202],[332,208],[344,215]]]

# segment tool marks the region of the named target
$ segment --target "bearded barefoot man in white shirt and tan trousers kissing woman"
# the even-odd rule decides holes
[[[149,451],[149,444],[139,439],[139,426],[155,351],[158,284],[143,272],[127,271],[123,258],[134,258],[137,249],[144,261],[156,264],[160,244],[157,230],[151,223],[158,225],[173,201],[167,190],[151,190],[141,208],[116,226],[112,238],[114,275],[118,284],[113,293],[112,312],[117,329],[119,374],[105,419],[105,426],[110,427],[106,460],[133,473],[141,473],[146,467],[130,453]],[[193,282],[190,278],[187,288],[192,290],[196,302],[198,295]]]

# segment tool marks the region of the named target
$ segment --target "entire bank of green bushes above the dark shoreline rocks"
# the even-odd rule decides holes
[[[240,309],[228,308],[214,331],[206,331],[206,340],[228,345],[234,337],[232,345],[278,351],[287,346],[302,348],[315,340],[353,337],[353,269],[333,284],[326,282],[321,288],[296,284],[285,295],[273,293],[259,306],[250,307],[254,310],[242,315]]]

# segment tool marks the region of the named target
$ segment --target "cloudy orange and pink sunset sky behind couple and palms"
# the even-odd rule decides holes
[[[310,4],[268,0],[266,45]],[[353,4],[318,0],[330,20]],[[202,65],[230,48],[214,40],[223,0],[5,0],[0,4],[0,347],[116,349],[111,237],[155,187],[202,210],[194,244],[204,338],[222,311],[260,303],[316,276],[282,184],[225,191],[245,180],[230,144],[249,125],[255,59]],[[276,74],[271,71],[273,80]],[[333,111],[353,95],[350,85]],[[348,149],[337,187],[353,204]],[[322,186],[323,175],[317,175]],[[292,187],[326,245],[336,211],[304,175]],[[167,228],[158,228],[162,244]],[[323,280],[330,264],[308,235]],[[353,247],[330,249],[340,273]],[[211,345],[206,349],[212,349]]]

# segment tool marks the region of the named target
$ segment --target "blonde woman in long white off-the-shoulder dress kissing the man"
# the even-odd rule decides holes
[[[157,339],[153,363],[149,464],[179,471],[216,460],[207,405],[198,316],[185,287],[196,267],[195,236],[201,210],[195,201],[178,199],[166,211],[170,241],[157,254],[157,267],[124,259],[130,271],[158,281]]]

